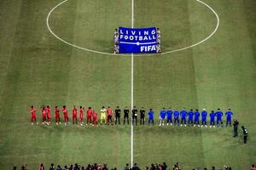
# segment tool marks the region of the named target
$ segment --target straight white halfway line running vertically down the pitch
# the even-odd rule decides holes
[[[131,28],[133,28],[134,19],[134,0],[131,0]],[[131,111],[133,107],[133,54],[131,54]],[[131,113],[131,167],[133,166],[133,124]]]

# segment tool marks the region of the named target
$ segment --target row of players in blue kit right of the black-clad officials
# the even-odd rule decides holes
[[[173,115],[173,116],[172,116]],[[174,125],[179,125],[180,126],[187,126],[187,121],[188,121],[188,126],[198,126],[198,127],[207,127],[207,111],[203,109],[201,113],[196,109],[193,111],[192,109],[190,111],[186,111],[183,109],[182,111],[172,111],[171,109],[165,110],[163,108],[160,111],[160,126],[164,126],[165,120],[167,125],[172,125],[172,118]],[[215,124],[217,127],[221,125],[223,127],[223,116],[224,113],[218,109],[217,111],[212,111],[210,114],[210,127],[215,127]],[[226,126],[230,124],[231,127],[231,118],[233,116],[233,112],[229,109],[228,111],[225,112],[226,116]],[[188,118],[187,118],[188,117]],[[200,125],[200,117],[201,117],[201,125]],[[154,123],[154,111],[150,109],[148,112],[148,124],[150,122]]]

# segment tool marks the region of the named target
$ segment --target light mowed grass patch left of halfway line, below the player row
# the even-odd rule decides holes
[[[122,167],[129,159],[129,131],[125,127],[66,127],[61,133],[62,165],[77,162],[108,163],[109,166]],[[124,147],[120,147],[124,144]],[[122,145],[121,145],[122,146]],[[64,157],[63,157],[64,156]]]

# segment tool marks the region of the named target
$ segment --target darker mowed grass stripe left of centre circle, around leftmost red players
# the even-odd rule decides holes
[[[70,48],[53,45],[55,38],[45,26],[48,5],[52,4],[32,1],[21,4],[3,105],[3,111],[9,111],[11,116],[4,116],[1,123],[1,167],[33,162],[31,167],[37,168],[41,162],[55,161],[59,154],[54,152],[61,142],[58,132],[53,132],[52,127],[32,127],[28,112],[30,105],[39,110],[41,104],[55,105],[53,101],[65,103],[66,100],[67,83],[59,73],[65,76],[68,73],[65,68],[68,68]]]

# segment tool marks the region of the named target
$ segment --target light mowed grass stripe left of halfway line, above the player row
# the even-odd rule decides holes
[[[109,42],[112,42],[114,28],[125,25],[125,22],[127,25],[129,20],[125,19],[131,10],[130,8],[128,8],[129,10],[124,8],[122,14],[120,14],[124,16],[124,19],[116,20],[115,12],[117,11],[109,10],[111,8],[109,6],[113,3],[116,3],[116,1],[98,1],[98,3],[79,1],[77,16],[73,18],[73,20],[76,20],[73,43],[88,48],[99,40],[105,39],[108,42],[100,42],[102,48],[97,50],[106,50],[104,45],[110,45]],[[72,2],[68,2],[66,6],[58,10],[70,8],[69,4],[72,4]],[[129,4],[130,2],[124,2],[121,5],[125,7]],[[102,8],[102,6],[106,6],[106,8]],[[95,10],[96,8],[100,10]],[[58,10],[55,13],[59,13]],[[113,22],[106,22],[105,17],[107,16],[108,20],[113,20]],[[65,19],[60,20],[60,22],[65,27]],[[53,23],[53,27],[55,27],[55,23]],[[55,30],[58,32],[61,28],[56,27]],[[102,32],[105,31],[108,34],[103,35]],[[61,33],[61,36],[68,39],[63,33]],[[70,101],[68,105],[92,106],[96,111],[99,111],[102,105],[112,107],[120,105],[124,107],[124,105],[130,104],[131,64],[129,57],[109,57],[102,54],[87,53],[76,48],[73,48],[72,55],[68,81],[68,99]]]

